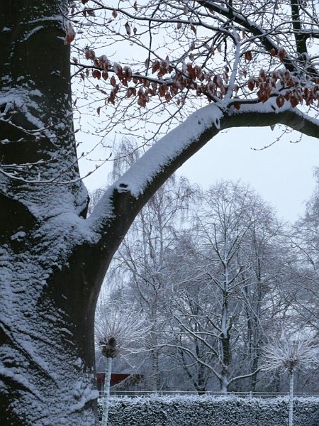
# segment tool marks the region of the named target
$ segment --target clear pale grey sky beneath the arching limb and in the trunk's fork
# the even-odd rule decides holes
[[[241,128],[220,133],[178,173],[203,189],[223,179],[250,183],[276,208],[279,218],[293,222],[303,213],[304,202],[315,187],[313,170],[319,166],[319,143],[310,137],[291,143],[298,139],[298,133],[292,132],[267,149],[252,150],[269,145],[280,134],[278,128],[274,131]],[[82,167],[83,172],[86,170]],[[84,182],[89,190],[103,187],[110,170],[111,165],[107,164],[86,178]]]

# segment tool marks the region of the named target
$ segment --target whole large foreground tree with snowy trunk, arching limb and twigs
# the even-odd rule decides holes
[[[74,3],[72,22],[84,37],[96,31],[96,43],[136,40],[147,51],[146,65],[132,67],[100,55],[94,41],[72,55],[84,87],[94,81],[101,107],[106,101],[111,126],[120,118],[129,124],[130,104],[132,118],[146,122],[151,100],[171,112],[159,127],[150,118],[155,133],[166,133],[164,121],[182,120],[108,187],[86,218],[67,6],[67,0],[0,5],[1,406],[11,426],[97,423],[93,328],[101,283],[136,214],[182,163],[235,126],[280,123],[318,138],[315,1],[292,9],[290,0],[161,0],[116,10],[107,0]],[[155,53],[150,38],[161,44],[160,30],[176,40],[177,29],[181,50],[172,55],[165,43]],[[215,50],[221,54],[213,56]],[[209,104],[194,111],[191,93]]]

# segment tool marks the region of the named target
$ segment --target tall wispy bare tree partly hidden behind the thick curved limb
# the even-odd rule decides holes
[[[134,141],[123,140],[116,151],[111,179],[123,173],[140,157],[141,150]],[[147,339],[147,356],[151,364],[152,391],[162,388],[165,376],[160,374],[159,364],[165,359],[165,351],[159,349],[165,305],[171,294],[170,257],[177,239],[177,229],[196,197],[198,189],[191,187],[186,178],[172,175],[157,193],[142,208],[114,256],[108,280],[118,282],[111,298],[118,297],[118,288],[123,288],[121,299],[137,300],[140,310],[152,324]],[[101,190],[94,192],[99,200]],[[119,285],[119,283],[121,283]],[[121,292],[120,292],[121,293]],[[147,360],[145,360],[147,364]]]

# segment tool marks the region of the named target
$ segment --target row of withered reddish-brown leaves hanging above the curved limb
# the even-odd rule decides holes
[[[279,53],[278,53],[279,55]],[[284,55],[284,50],[281,51]],[[106,102],[115,104],[116,97],[121,87],[127,87],[126,97],[136,97],[136,102],[140,107],[145,107],[152,97],[159,97],[170,102],[177,94],[181,94],[184,89],[193,90],[197,96],[204,95],[211,102],[216,99],[223,99],[228,92],[229,72],[228,66],[225,67],[222,74],[213,75],[212,72],[203,70],[192,62],[185,63],[183,70],[175,70],[169,61],[169,57],[165,60],[155,60],[152,62],[152,76],[143,76],[133,74],[130,67],[122,67],[117,63],[111,64],[105,55],[96,58],[94,50],[87,49],[85,53],[86,59],[94,63],[94,69],[91,70],[91,77],[98,80],[108,80],[111,84],[111,92]],[[249,58],[246,58],[250,60]],[[109,74],[111,72],[111,78]],[[247,72],[242,72],[246,77]],[[265,70],[259,71],[259,76],[250,77],[242,88],[245,86],[250,92],[256,92],[260,102],[267,102],[270,97],[276,96],[276,104],[280,108],[285,101],[291,103],[291,107],[296,107],[303,102],[307,106],[319,99],[319,82],[313,84],[306,82],[301,84],[295,76],[291,75],[289,70],[279,70],[267,73]],[[233,87],[235,94],[239,87],[237,84]],[[177,99],[177,103],[181,104],[183,96]],[[236,109],[240,109],[240,98],[234,104]],[[183,100],[184,102],[184,100]],[[183,103],[182,102],[182,103]]]

